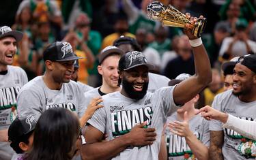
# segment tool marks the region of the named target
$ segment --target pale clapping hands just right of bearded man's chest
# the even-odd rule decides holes
[[[170,122],[168,127],[170,128],[171,133],[177,134],[181,137],[188,137],[190,135],[193,135],[193,132],[190,131],[189,125],[188,125],[188,112],[184,112],[184,121],[179,122],[179,121],[174,121]]]

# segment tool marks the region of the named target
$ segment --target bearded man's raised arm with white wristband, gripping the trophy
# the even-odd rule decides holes
[[[188,14],[186,14],[186,16],[190,17]],[[200,18],[202,18],[202,16]],[[190,20],[190,22],[193,23],[196,21],[196,18],[191,18]],[[195,59],[195,75],[180,82],[180,84],[177,84],[175,87],[173,99],[176,104],[184,104],[190,99],[193,99],[193,97],[212,81],[210,61],[203,44],[200,43],[201,39],[197,39],[197,37],[192,34],[192,29],[190,29],[189,24],[185,25],[184,32],[190,39],[190,44],[197,44],[195,47],[192,47]]]

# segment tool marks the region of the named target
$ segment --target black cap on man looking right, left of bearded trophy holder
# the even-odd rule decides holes
[[[44,50],[43,59],[44,61],[72,61],[83,59],[83,57],[77,57],[76,54],[74,54],[70,43],[54,42]]]

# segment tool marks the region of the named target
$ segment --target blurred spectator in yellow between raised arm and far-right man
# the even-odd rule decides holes
[[[223,84],[221,82],[221,74],[217,69],[212,69],[212,82],[210,82],[208,87],[203,90],[200,101],[203,101],[203,106],[212,106],[212,101],[215,95],[222,92]]]

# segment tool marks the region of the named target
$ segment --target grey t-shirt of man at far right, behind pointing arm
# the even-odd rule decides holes
[[[232,94],[233,90],[216,95],[212,107],[233,116],[256,121],[256,101],[245,103]],[[231,129],[224,129],[220,121],[210,121],[210,131],[224,131],[222,148],[224,159],[255,159],[256,142]]]

